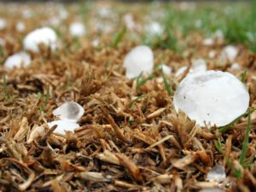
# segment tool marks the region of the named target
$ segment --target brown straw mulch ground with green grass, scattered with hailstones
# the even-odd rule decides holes
[[[175,77],[177,69],[203,58],[208,69],[243,79],[254,107],[252,8],[245,3],[1,4],[0,17],[8,20],[0,31],[1,64],[21,50],[22,39],[39,26],[55,29],[60,48],[32,55],[27,68],[9,71],[0,66],[0,190],[253,191],[256,115],[252,113],[250,126],[245,115],[224,129],[201,129],[183,113],[175,113],[172,103],[187,73]],[[67,18],[60,20],[65,11]],[[125,28],[127,13],[134,18],[134,28]],[[84,22],[86,37],[69,35],[67,26],[73,20]],[[163,26],[161,35],[144,32],[152,20]],[[22,32],[16,30],[19,21],[26,24]],[[206,38],[213,38],[214,44],[204,45]],[[129,80],[122,63],[138,44],[154,50],[155,70],[150,79]],[[239,49],[235,61],[219,60],[227,44]],[[172,67],[172,73],[164,77],[160,63]],[[231,68],[233,63],[241,68]],[[55,119],[53,109],[67,101],[79,102],[85,113],[74,134],[58,136],[45,123]],[[223,165],[227,174],[219,186],[206,180],[215,165]]]

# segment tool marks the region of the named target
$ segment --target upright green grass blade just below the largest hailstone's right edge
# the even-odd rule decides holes
[[[247,146],[249,143],[249,134],[251,131],[251,110],[248,111],[248,117],[247,117],[247,128],[246,128],[246,135],[244,137],[244,140],[242,142],[242,147],[241,147],[241,156],[240,156],[240,164],[244,164],[244,160],[246,159],[246,154],[247,154]]]

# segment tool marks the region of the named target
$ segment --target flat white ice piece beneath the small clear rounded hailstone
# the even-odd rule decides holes
[[[66,120],[55,120],[47,124],[49,125],[49,127],[52,127],[53,125],[58,125],[54,132],[63,135],[65,135],[65,131],[74,131],[76,128],[79,128],[79,124]]]

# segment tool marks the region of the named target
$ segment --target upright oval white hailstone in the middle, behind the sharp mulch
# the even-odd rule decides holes
[[[125,76],[129,79],[136,78],[141,73],[152,73],[154,55],[152,50],[145,45],[137,46],[125,56]]]

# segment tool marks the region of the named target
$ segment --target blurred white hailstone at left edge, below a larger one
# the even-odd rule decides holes
[[[19,67],[28,67],[31,64],[30,55],[26,52],[20,51],[15,55],[10,55],[3,66],[8,69],[19,68]]]

